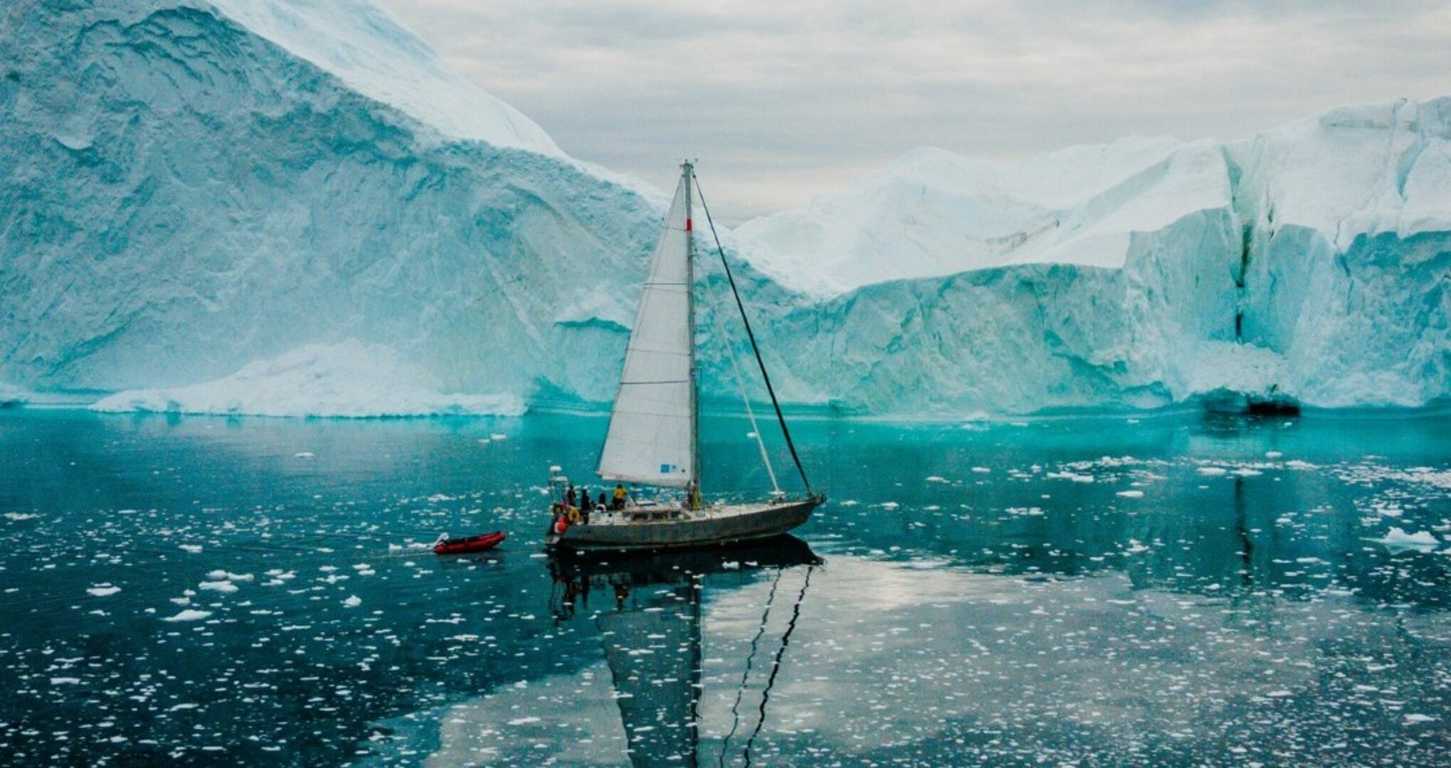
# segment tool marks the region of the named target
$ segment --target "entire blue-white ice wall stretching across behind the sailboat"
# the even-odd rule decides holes
[[[614,396],[665,196],[567,156],[363,0],[17,0],[0,112],[0,400]],[[1451,390],[1448,116],[1397,100],[1020,162],[917,149],[723,236],[800,406],[1418,407]],[[728,396],[704,349],[707,397]]]

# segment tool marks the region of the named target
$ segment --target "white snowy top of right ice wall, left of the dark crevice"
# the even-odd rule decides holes
[[[1213,142],[1130,138],[1016,164],[918,149],[736,243],[785,285],[831,297],[888,280],[1010,264],[1123,267],[1133,232],[1229,204]]]

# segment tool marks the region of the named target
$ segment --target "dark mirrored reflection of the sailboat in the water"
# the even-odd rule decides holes
[[[591,598],[608,600],[595,622],[602,633],[605,661],[633,765],[699,765],[704,578],[730,571],[750,574],[776,569],[776,583],[772,585],[760,630],[752,640],[755,655],[768,627],[781,575],[804,565],[807,568],[791,620],[772,659],[759,706],[755,707],[755,723],[741,713],[752,667],[757,664],[752,656],[746,659],[736,693],[734,722],[721,743],[720,764],[726,764],[727,751],[739,751],[744,762],[750,764],[750,749],[765,725],[770,687],[791,642],[811,572],[820,564],[821,558],[794,536],[708,551],[649,556],[634,554],[612,561],[591,554],[556,556],[550,561],[556,587],[562,590],[556,593],[553,606],[557,617],[573,617],[577,609],[588,607]]]

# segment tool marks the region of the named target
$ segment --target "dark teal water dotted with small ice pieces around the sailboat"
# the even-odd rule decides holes
[[[798,542],[546,558],[547,468],[589,477],[604,429],[0,412],[0,751],[1444,765],[1451,749],[1445,417],[802,422],[831,501]],[[768,483],[747,430],[705,423],[707,491]],[[489,554],[427,548],[493,529],[509,539]]]

